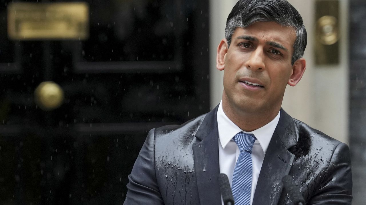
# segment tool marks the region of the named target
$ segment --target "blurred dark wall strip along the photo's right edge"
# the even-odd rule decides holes
[[[353,205],[365,204],[366,193],[366,1],[350,1],[350,151]]]

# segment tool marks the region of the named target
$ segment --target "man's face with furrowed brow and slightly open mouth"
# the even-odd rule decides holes
[[[291,57],[295,37],[292,27],[275,22],[236,28],[230,47],[227,43],[224,46],[223,103],[244,112],[279,109],[294,72]]]

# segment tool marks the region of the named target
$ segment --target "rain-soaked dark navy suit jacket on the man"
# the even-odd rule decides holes
[[[135,162],[124,205],[221,205],[217,107],[182,125],[152,129]],[[307,204],[352,200],[348,146],[281,109],[253,205],[292,204],[281,179],[291,175]]]

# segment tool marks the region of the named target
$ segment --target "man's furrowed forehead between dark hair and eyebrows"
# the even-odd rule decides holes
[[[242,35],[253,36],[259,42],[278,42],[290,50],[295,42],[296,30],[276,22],[255,22],[246,28],[236,28],[232,35],[232,41]]]

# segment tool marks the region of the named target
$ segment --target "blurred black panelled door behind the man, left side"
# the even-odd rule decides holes
[[[89,0],[86,40],[12,40],[10,2],[0,204],[122,204],[147,132],[209,111],[208,1]],[[40,85],[63,93],[59,107],[44,106]]]

